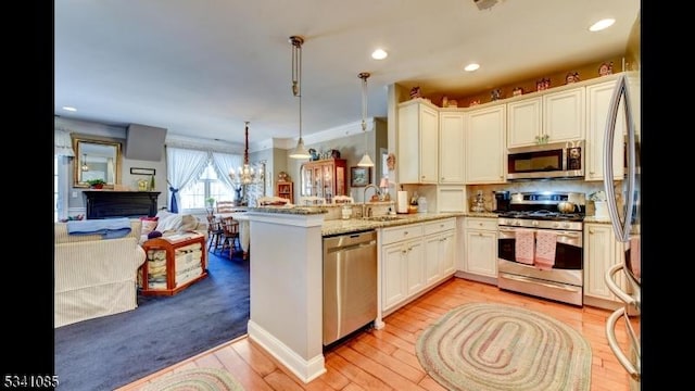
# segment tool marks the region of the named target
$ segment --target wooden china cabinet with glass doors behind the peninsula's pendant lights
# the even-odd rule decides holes
[[[302,164],[302,197],[321,197],[331,203],[336,195],[348,195],[348,161],[324,159]]]

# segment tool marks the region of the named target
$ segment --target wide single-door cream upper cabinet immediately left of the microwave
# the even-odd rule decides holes
[[[504,182],[506,104],[473,110],[466,114],[466,184]]]

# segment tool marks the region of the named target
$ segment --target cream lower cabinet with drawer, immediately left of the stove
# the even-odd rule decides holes
[[[497,279],[497,219],[494,217],[466,217],[464,272]]]

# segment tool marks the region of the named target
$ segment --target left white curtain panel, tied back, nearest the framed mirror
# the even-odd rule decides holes
[[[200,178],[208,159],[207,151],[166,148],[166,178],[172,192],[169,212],[178,213],[178,190]]]

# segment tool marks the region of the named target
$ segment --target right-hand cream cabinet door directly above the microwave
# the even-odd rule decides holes
[[[543,94],[543,134],[546,142],[583,140],[584,87]]]

